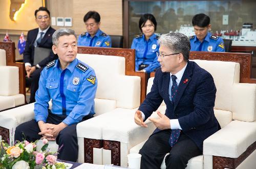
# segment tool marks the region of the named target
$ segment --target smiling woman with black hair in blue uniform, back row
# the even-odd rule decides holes
[[[143,35],[134,38],[132,49],[136,50],[135,70],[146,73],[153,72],[160,67],[157,61],[157,21],[152,14],[144,14],[139,20],[139,29]]]

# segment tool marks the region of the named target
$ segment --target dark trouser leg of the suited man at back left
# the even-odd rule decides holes
[[[38,82],[40,78],[41,71],[44,68],[36,69],[30,76],[31,85],[30,85],[30,101],[29,103],[35,102],[35,93],[38,89]]]

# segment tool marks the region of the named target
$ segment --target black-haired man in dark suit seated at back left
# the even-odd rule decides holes
[[[35,92],[38,89],[40,72],[47,63],[57,59],[57,56],[51,51],[49,57],[38,64],[34,63],[34,58],[37,57],[34,55],[35,47],[51,49],[52,34],[55,32],[50,26],[50,12],[47,8],[40,7],[38,10],[35,10],[35,21],[39,27],[28,32],[23,59],[27,77],[31,78],[30,103],[35,102]]]

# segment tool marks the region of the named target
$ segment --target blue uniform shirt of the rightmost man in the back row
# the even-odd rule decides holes
[[[202,43],[197,39],[197,36],[195,35],[189,37],[189,39],[191,51],[225,51],[223,39],[218,36],[211,35],[209,32],[205,36]]]

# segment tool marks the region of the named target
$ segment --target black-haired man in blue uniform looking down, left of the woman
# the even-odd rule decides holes
[[[96,11],[89,11],[83,17],[87,32],[78,37],[78,46],[111,47],[111,38],[100,29],[100,15]]]

